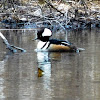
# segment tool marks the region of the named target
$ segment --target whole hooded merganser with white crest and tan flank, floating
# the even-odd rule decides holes
[[[48,51],[66,51],[66,52],[80,52],[83,48],[77,48],[68,41],[62,41],[57,39],[50,39],[52,32],[48,28],[41,28],[37,32],[37,38],[40,41],[37,44],[37,50]],[[34,39],[34,40],[36,40]]]

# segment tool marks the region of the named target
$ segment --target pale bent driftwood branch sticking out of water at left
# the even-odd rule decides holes
[[[19,48],[14,45],[10,45],[8,40],[4,37],[4,35],[0,32],[0,37],[3,39],[3,43],[7,46],[7,49],[9,49],[11,52],[16,53],[17,50],[20,50],[21,52],[26,52],[26,50]]]

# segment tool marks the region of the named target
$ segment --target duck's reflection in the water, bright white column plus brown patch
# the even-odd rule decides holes
[[[51,60],[59,60],[61,53],[56,52],[37,52],[38,77],[51,77]]]

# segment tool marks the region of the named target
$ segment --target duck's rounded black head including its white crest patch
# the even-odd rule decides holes
[[[48,28],[41,28],[37,32],[37,39],[46,42],[49,41],[49,38],[52,36],[52,32]]]

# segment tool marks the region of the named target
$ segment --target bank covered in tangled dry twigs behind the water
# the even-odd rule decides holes
[[[14,4],[0,10],[3,28],[84,29],[100,27],[100,7],[93,2],[31,1],[27,5]]]

